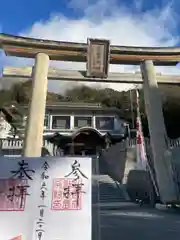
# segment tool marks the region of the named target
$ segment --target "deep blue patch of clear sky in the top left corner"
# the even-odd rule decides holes
[[[34,22],[47,20],[53,13],[73,16],[65,0],[2,0],[0,23],[2,31],[17,34]]]

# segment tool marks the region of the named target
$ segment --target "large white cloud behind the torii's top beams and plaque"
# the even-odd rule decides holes
[[[87,37],[110,39],[111,44],[126,46],[174,46],[177,44],[176,14],[172,2],[162,9],[141,12],[142,1],[135,1],[131,8],[111,0],[73,0],[69,7],[83,13],[81,18],[68,19],[62,14],[52,15],[47,21],[33,24],[20,35],[51,40],[86,42]],[[24,59],[8,58],[3,61],[11,65],[25,65]],[[28,61],[32,64],[32,61]],[[85,64],[52,62],[52,65],[67,69],[85,69]],[[134,66],[110,66],[110,71],[129,72],[139,70]],[[180,70],[171,68],[157,68],[157,71],[179,74]],[[57,85],[58,84],[58,85]],[[74,86],[72,83],[71,86]],[[63,91],[70,84],[65,82],[50,82],[49,89]],[[104,86],[104,85],[103,85]],[[124,90],[132,85],[109,84],[117,90]]]

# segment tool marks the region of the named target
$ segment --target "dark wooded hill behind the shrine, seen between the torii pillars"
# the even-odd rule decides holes
[[[163,99],[163,111],[168,136],[171,138],[180,137],[180,87],[161,85],[160,92]],[[64,95],[48,92],[47,102],[87,102],[101,103],[108,107],[117,107],[121,110],[121,117],[129,121],[133,126],[133,115],[136,116],[135,91],[131,91],[132,105],[130,102],[130,92],[119,92],[110,88],[95,89],[87,86],[76,87],[68,90]],[[14,84],[10,90],[0,91],[0,107],[8,108],[8,105],[16,103],[16,106],[29,103],[31,98],[31,81]],[[148,135],[148,125],[144,110],[143,91],[140,91],[141,115],[144,133]],[[131,111],[133,106],[133,113]],[[18,107],[17,107],[18,108]]]

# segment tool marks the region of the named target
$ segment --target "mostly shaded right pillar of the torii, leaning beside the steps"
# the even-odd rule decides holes
[[[161,96],[156,81],[153,61],[141,63],[144,100],[148,118],[150,144],[160,197],[164,203],[177,199],[171,169],[171,155],[167,146],[167,133],[164,124]]]

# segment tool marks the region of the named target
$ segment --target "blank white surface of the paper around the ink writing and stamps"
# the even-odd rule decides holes
[[[28,169],[35,170],[35,173],[28,172],[33,180],[28,180],[28,185],[30,187],[27,188],[27,192],[30,195],[26,196],[24,211],[17,211],[17,209],[16,211],[12,211],[13,209],[10,209],[9,207],[12,207],[12,199],[10,199],[10,197],[12,198],[12,192],[7,193],[6,191],[6,193],[4,193],[3,189],[5,189],[5,187],[3,184],[5,183],[5,179],[9,179],[13,176],[11,171],[19,169],[18,162],[21,162],[22,160],[27,162]],[[80,164],[79,169],[85,175],[84,177],[81,176],[84,185],[82,186],[80,197],[78,198],[81,200],[79,200],[78,203],[80,210],[60,210],[60,205],[58,204],[53,205],[53,208],[56,208],[57,210],[52,210],[52,200],[55,195],[52,194],[53,182],[57,185],[58,182],[62,183],[62,181],[67,183],[67,178],[75,179],[75,175],[65,177],[71,173],[71,165],[75,160]],[[47,161],[49,165],[47,170],[49,178],[45,179],[46,186],[44,189],[46,188],[46,196],[44,200],[42,200],[40,197],[43,182],[42,173],[44,171],[42,166],[45,161]],[[84,157],[0,158],[0,240],[9,240],[19,235],[22,235],[23,240],[91,240],[91,164],[91,158]],[[76,169],[76,174],[80,174],[77,172],[78,170]],[[16,176],[14,176],[14,178],[16,178]],[[72,181],[70,181],[70,183],[72,183]],[[76,200],[77,196],[72,196],[74,196],[74,199]],[[4,199],[6,199],[6,205],[3,205]],[[18,197],[16,197],[16,200],[17,199]],[[17,205],[18,204],[19,202]],[[38,219],[40,218],[40,208],[38,206],[43,204],[46,205],[43,212],[44,224],[42,224],[44,232],[41,238],[38,238],[36,232],[38,229],[37,221],[39,221]],[[75,206],[77,207],[77,201],[75,201]]]

